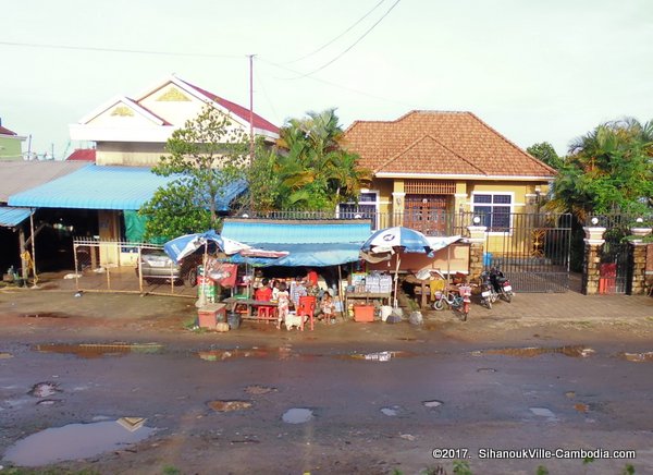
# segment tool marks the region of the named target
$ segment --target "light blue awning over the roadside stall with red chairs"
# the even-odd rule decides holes
[[[287,251],[278,259],[231,256],[232,263],[258,267],[325,267],[359,260],[362,243],[371,234],[369,221],[266,221],[225,220],[222,233],[232,239],[267,251]]]

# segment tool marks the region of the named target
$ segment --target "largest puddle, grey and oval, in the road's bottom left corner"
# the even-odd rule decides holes
[[[123,449],[148,438],[155,431],[144,425],[128,429],[119,421],[69,424],[41,430],[11,446],[4,453],[4,460],[19,466],[39,466],[86,459]]]

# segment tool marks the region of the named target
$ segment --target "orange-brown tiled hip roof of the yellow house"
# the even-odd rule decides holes
[[[344,145],[374,173],[555,175],[471,112],[414,110],[396,121],[356,121]]]

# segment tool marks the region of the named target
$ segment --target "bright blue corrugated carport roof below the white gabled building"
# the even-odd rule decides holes
[[[89,165],[40,186],[9,197],[11,206],[33,208],[139,209],[160,186],[178,175],[159,176],[147,167]],[[232,184],[218,204],[221,210],[245,191],[245,182]]]

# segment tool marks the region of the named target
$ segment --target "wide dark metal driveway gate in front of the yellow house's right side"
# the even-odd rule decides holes
[[[515,292],[569,290],[571,215],[512,214],[509,228],[489,231],[484,264],[498,266]]]

